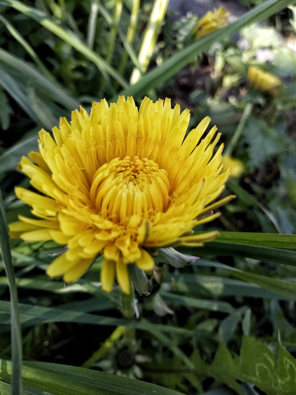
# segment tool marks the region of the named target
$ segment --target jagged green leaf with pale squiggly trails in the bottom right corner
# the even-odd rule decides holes
[[[294,395],[296,359],[279,344],[278,357],[263,342],[243,335],[240,356],[219,344],[213,363],[196,356],[197,371],[216,378],[242,394],[236,380],[251,383],[268,395]]]

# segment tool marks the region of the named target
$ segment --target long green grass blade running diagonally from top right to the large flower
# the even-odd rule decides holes
[[[155,67],[152,71],[144,75],[139,82],[124,89],[120,94],[135,97],[144,96],[144,94],[149,90],[154,89],[158,87],[159,84],[167,81],[167,79],[189,64],[197,55],[206,51],[206,49],[216,41],[229,37],[231,34],[238,32],[238,30],[248,24],[262,21],[263,19],[274,15],[289,4],[290,0],[268,0],[260,4],[245,13],[235,22],[230,23],[225,28],[209,34],[201,40],[198,40],[196,43],[189,45],[189,47],[183,49],[179,53],[171,56],[168,60],[165,60],[161,66]],[[116,100],[117,97],[113,97],[111,102],[116,102]]]

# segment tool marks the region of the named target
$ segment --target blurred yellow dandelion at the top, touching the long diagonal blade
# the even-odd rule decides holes
[[[229,15],[230,12],[227,12],[224,7],[208,11],[195,26],[195,38],[199,39],[208,36],[208,34],[227,26]]]

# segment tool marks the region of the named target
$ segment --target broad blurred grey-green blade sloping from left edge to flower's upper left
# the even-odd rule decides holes
[[[34,66],[0,48],[0,63],[1,62],[20,71],[21,74],[24,75],[24,80],[28,80],[29,78],[30,81],[36,83],[39,87],[49,92],[54,101],[62,104],[70,111],[79,107],[80,103],[69,96],[65,89],[60,87],[60,85],[49,81],[49,79],[36,70]]]

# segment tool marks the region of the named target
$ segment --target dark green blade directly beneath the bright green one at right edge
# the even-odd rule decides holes
[[[271,261],[283,263],[284,265],[296,266],[296,252],[290,250],[280,250],[279,248],[261,247],[255,245],[229,243],[226,241],[210,241],[204,247],[199,248],[178,248],[183,254],[189,255],[226,255],[244,256],[260,261]]]

